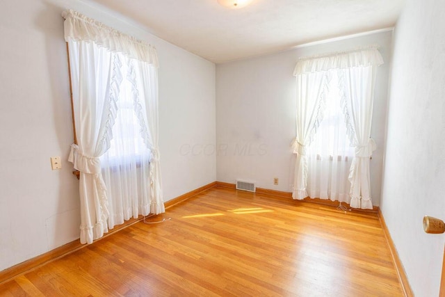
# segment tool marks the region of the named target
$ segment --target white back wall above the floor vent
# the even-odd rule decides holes
[[[371,197],[380,204],[380,185],[387,81],[391,54],[391,31],[362,35],[300,47],[216,66],[217,173],[220,182],[236,179],[257,182],[261,188],[291,192],[295,157],[291,141],[296,135],[296,80],[298,58],[380,45],[385,61],[375,86],[371,136],[378,149],[371,161]],[[278,186],[273,185],[278,177]]]

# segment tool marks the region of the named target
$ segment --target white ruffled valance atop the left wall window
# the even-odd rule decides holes
[[[66,10],[62,16],[65,18],[66,42],[92,41],[99,47],[120,51],[129,58],[136,58],[138,61],[158,67],[156,49],[152,45],[112,29],[74,10]]]

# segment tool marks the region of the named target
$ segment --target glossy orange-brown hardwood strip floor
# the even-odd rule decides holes
[[[0,296],[403,296],[378,215],[211,188]]]

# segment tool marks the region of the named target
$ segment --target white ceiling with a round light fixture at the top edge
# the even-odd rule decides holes
[[[214,63],[394,26],[405,0],[93,0]]]

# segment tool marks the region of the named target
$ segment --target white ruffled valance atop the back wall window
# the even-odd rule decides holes
[[[378,47],[346,51],[337,54],[300,58],[293,75],[302,73],[327,71],[331,69],[347,69],[351,67],[380,66],[383,58]]]

